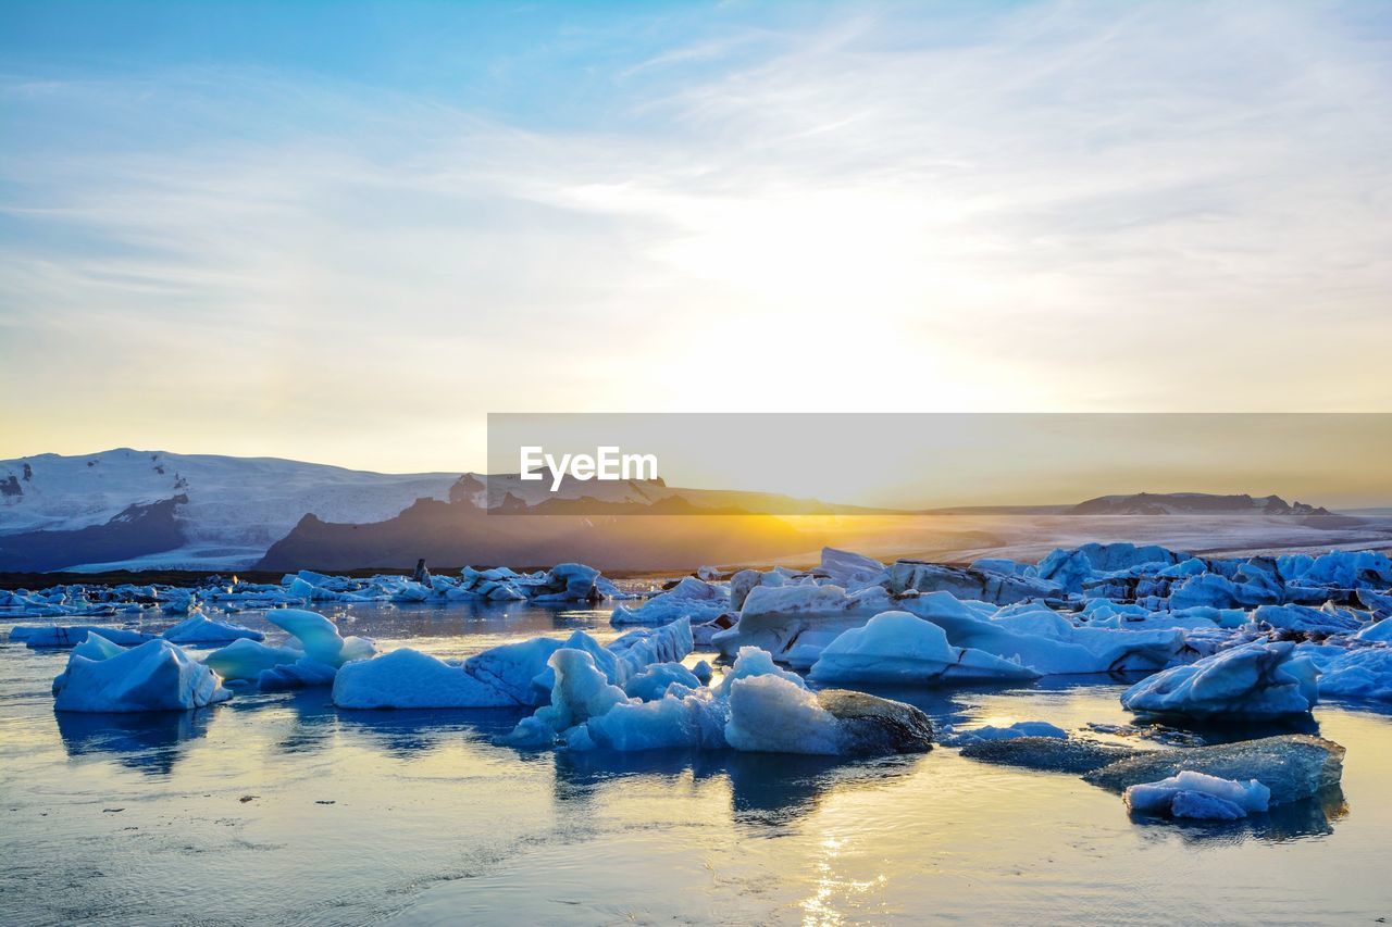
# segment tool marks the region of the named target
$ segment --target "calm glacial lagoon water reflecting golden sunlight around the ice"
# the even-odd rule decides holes
[[[455,658],[618,635],[610,608],[355,604],[344,633]],[[273,631],[262,612],[234,615]],[[6,619],[0,632],[19,619]],[[167,624],[173,624],[173,619]],[[159,625],[152,622],[153,629]],[[697,651],[695,664],[713,654]],[[56,714],[67,651],[0,643],[6,921],[1371,923],[1392,916],[1392,714],[1317,732],[1342,792],[1236,823],[1132,817],[1070,774],[926,754],[519,752],[529,713],[348,711],[327,689],[193,713]],[[720,671],[720,667],[717,667]],[[935,727],[1038,720],[1107,740],[1125,679],[878,689]]]

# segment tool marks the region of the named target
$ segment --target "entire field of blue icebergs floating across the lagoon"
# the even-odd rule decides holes
[[[1373,551],[1215,558],[1086,544],[1038,564],[955,566],[827,548],[813,569],[721,576],[703,568],[617,604],[611,622],[626,633],[608,643],[576,631],[466,660],[377,653],[303,605],[594,604],[624,593],[579,564],[367,579],[302,571],[271,586],[6,593],[0,610],[189,615],[160,637],[102,624],[15,628],[11,639],[35,647],[75,647],[54,681],[60,710],[188,710],[242,688],[326,686],[344,710],[516,710],[525,715],[498,738],[516,749],[913,753],[934,742],[927,715],[857,688],[1143,676],[1122,695],[1137,724],[1111,731],[1114,740],[1140,732],[1153,740],[1146,750],[1043,721],[947,728],[938,740],[970,759],[1080,774],[1137,814],[1178,818],[1233,820],[1310,798],[1338,784],[1343,749],[1303,735],[1208,746],[1165,722],[1300,717],[1321,697],[1392,700],[1392,562]],[[267,642],[206,607],[270,608],[285,637]],[[209,644],[224,646],[200,658],[184,649]],[[722,664],[718,681],[697,651]]]

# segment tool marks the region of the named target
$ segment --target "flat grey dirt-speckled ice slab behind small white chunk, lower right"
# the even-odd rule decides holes
[[[1336,786],[1343,775],[1343,747],[1322,738],[1286,734],[1240,743],[1146,750],[1083,778],[1121,792],[1129,785],[1155,782],[1183,770],[1224,779],[1257,779],[1271,789],[1272,805],[1283,805]]]

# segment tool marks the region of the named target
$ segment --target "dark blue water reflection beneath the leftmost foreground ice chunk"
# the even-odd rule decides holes
[[[53,717],[70,757],[99,756],[148,775],[168,775],[189,743],[207,735],[213,711],[54,711]]]

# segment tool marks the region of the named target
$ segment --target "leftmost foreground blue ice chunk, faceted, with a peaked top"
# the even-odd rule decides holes
[[[187,711],[231,697],[217,674],[167,640],[104,660],[68,657],[53,681],[57,711]]]

